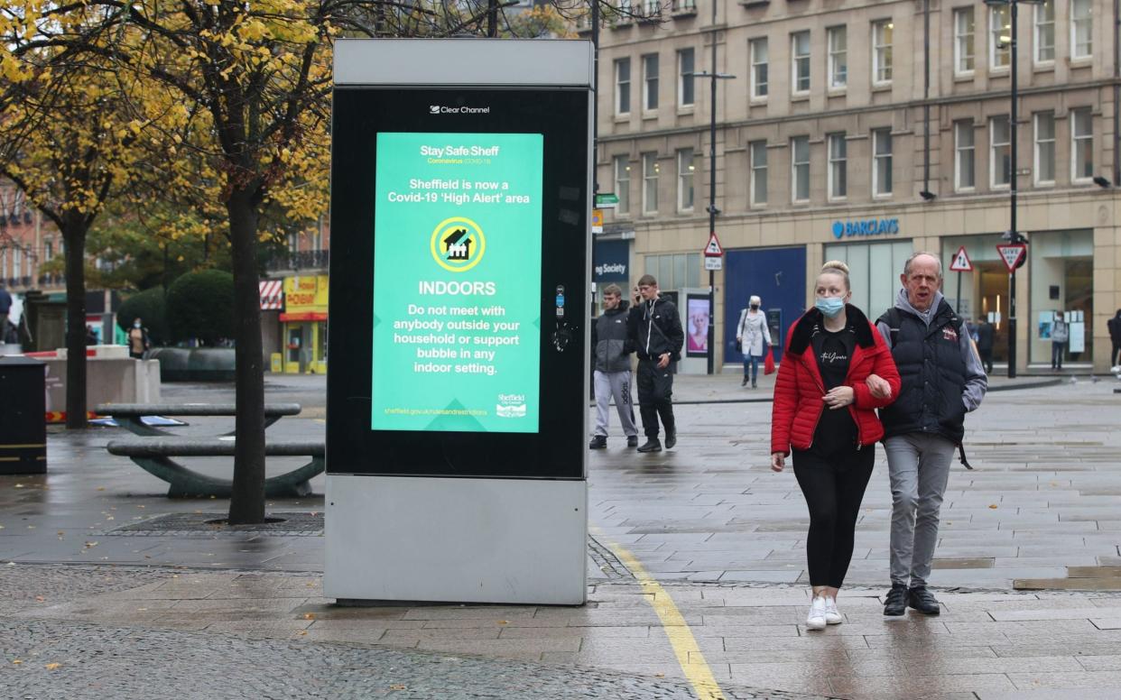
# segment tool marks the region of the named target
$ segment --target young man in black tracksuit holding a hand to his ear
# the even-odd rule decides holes
[[[638,407],[646,444],[640,452],[661,450],[658,417],[666,429],[666,449],[677,444],[674,422],[674,367],[682,358],[685,332],[677,307],[658,296],[658,281],[643,274],[638,281],[639,299],[627,319],[628,349],[638,353]]]

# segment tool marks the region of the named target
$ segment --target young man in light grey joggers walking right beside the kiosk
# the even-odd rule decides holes
[[[603,288],[603,314],[592,325],[595,351],[595,432],[591,449],[608,446],[608,420],[611,399],[615,400],[619,424],[627,436],[627,447],[638,447],[634,405],[631,403],[630,353],[627,343],[627,307],[618,284]]]

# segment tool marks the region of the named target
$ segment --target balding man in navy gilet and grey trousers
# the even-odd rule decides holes
[[[899,280],[904,288],[895,307],[877,321],[902,380],[896,402],[880,409],[892,497],[891,590],[883,614],[902,615],[909,605],[937,615],[938,601],[926,582],[938,513],[954,448],[965,433],[965,413],[981,405],[989,379],[964,319],[938,291],[942,261],[915,253]]]

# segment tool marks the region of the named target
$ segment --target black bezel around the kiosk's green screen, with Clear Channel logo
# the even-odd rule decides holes
[[[584,478],[587,413],[590,92],[572,88],[343,87],[334,91],[328,474]],[[490,106],[430,114],[430,105]],[[539,423],[534,433],[370,428],[374,164],[379,132],[541,133]],[[527,280],[528,282],[528,280]],[[572,342],[557,352],[556,288],[565,286]]]

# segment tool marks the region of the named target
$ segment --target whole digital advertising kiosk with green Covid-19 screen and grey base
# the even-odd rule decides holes
[[[335,44],[326,596],[585,601],[592,71]]]

